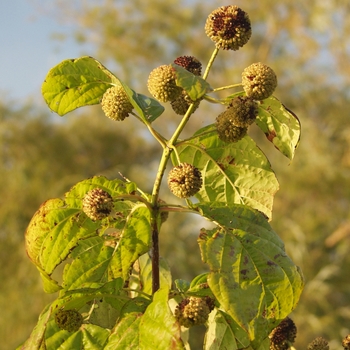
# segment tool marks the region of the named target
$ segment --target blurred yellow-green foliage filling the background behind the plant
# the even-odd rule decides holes
[[[206,62],[213,46],[204,35],[205,19],[227,4],[56,0],[51,6],[54,16],[75,24],[72,35],[78,42],[94,44],[95,52],[87,54],[108,65],[133,89],[148,94],[146,81],[154,67],[180,55]],[[301,144],[291,164],[258,130],[252,132],[261,139],[259,145],[280,181],[271,224],[306,277],[301,301],[291,315],[299,329],[295,347],[306,348],[314,337],[324,336],[331,349],[339,348],[342,337],[350,333],[350,22],[346,20],[350,4],[345,0],[235,4],[250,15],[252,39],[239,53],[220,52],[209,80],[213,87],[226,84],[230,76],[232,83],[239,82],[246,66],[266,63],[279,79],[276,97],[301,120]],[[98,174],[114,178],[121,172],[131,180],[137,178],[147,191],[160,154],[137,128],[137,121],[110,121],[98,107],[74,112],[62,121],[35,105],[12,105],[0,102],[3,349],[13,349],[28,337],[52,298],[42,291],[39,274],[24,251],[23,233],[39,205]],[[220,106],[205,106],[191,118],[189,134],[191,125],[204,126],[221,111]],[[174,118],[178,117],[164,115],[155,127],[159,123],[171,130]],[[168,196],[164,189],[161,197]],[[164,225],[161,254],[174,278],[191,279],[205,270],[197,244],[202,226],[208,224],[177,214]]]

